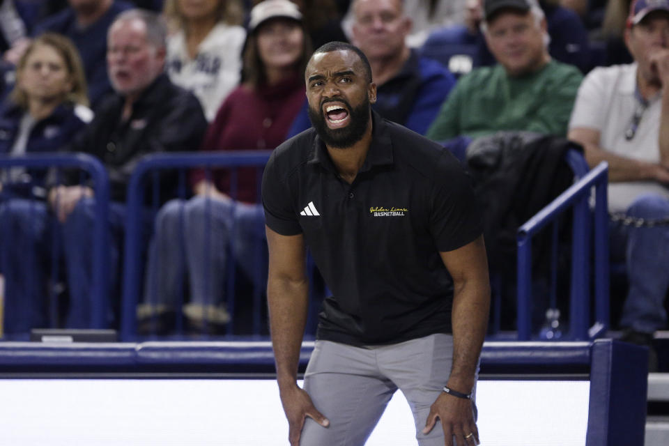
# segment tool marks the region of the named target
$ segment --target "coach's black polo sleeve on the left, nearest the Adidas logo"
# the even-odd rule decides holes
[[[263,208],[265,224],[282,236],[295,236],[302,233],[298,215],[293,209],[291,191],[286,181],[286,173],[282,172],[277,162],[277,151],[270,156],[263,172]]]

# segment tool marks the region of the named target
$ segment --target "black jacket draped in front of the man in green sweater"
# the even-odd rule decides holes
[[[498,132],[468,147],[468,169],[484,209],[491,269],[515,279],[518,227],[574,182],[564,161],[569,148],[580,146],[530,132]],[[544,261],[543,241],[533,244],[535,266]]]

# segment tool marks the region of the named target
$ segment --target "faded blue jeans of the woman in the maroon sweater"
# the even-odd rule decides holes
[[[231,270],[231,254],[245,275],[262,286],[266,277],[264,221],[263,208],[256,204],[201,196],[168,201],[155,219],[144,302],[177,305],[187,268],[190,302],[219,305]]]

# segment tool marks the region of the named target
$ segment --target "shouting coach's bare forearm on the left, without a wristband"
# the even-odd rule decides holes
[[[309,308],[309,284],[306,279],[268,281],[270,333],[274,348],[279,388],[295,384],[300,361],[302,337]]]

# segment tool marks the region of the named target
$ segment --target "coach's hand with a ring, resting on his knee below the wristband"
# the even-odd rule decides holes
[[[442,392],[430,407],[423,433],[429,433],[438,418],[444,430],[446,446],[453,446],[453,437],[458,445],[478,445],[479,431],[474,420],[472,404],[468,399]]]

